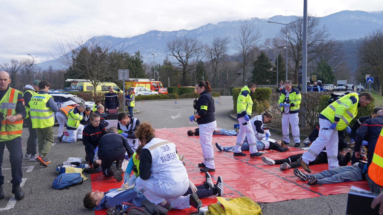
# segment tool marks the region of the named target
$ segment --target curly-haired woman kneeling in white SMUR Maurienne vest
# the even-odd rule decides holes
[[[146,198],[171,210],[198,208],[202,202],[197,194],[183,196],[189,188],[185,166],[178,159],[175,144],[155,137],[149,122],[142,123],[135,132],[144,145],[141,150],[137,187],[144,190]]]

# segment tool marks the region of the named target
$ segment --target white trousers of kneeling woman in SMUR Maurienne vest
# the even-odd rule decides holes
[[[174,182],[159,182],[153,176],[150,176],[147,180],[138,177],[136,184],[138,189],[144,192],[145,197],[156,205],[166,200],[175,209],[190,208],[190,195],[182,196],[189,188],[188,178],[177,182],[177,185],[174,186]]]

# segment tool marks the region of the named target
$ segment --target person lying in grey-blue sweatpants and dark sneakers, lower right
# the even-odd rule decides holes
[[[304,174],[298,168],[294,174],[302,181],[309,184],[334,184],[345,181],[362,181],[366,179],[367,168],[365,163],[355,163],[352,166],[338,166],[329,170],[323,170],[316,174]]]

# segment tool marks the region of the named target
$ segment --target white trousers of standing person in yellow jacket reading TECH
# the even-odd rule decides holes
[[[236,147],[234,148],[234,152],[242,152],[241,147],[243,144],[243,141],[245,140],[245,137],[247,138],[247,143],[249,143],[249,150],[250,154],[257,153],[257,139],[254,135],[253,127],[251,126],[251,122],[247,122],[247,125],[242,125],[242,123],[245,123],[245,117],[241,117],[238,119],[239,121],[239,131],[237,134],[237,143]]]

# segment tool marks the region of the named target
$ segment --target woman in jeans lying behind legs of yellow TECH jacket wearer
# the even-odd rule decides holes
[[[280,152],[290,150],[290,147],[286,147],[285,143],[283,143],[282,140],[277,140],[277,141],[275,140],[269,141],[269,140],[272,140],[272,139],[269,138],[268,140],[257,141],[256,142],[257,150],[261,151],[265,149],[270,149],[270,150],[278,150]],[[235,146],[224,147],[223,145],[218,143],[216,143],[216,147],[218,148],[219,151],[229,151],[229,152],[234,152],[234,148],[235,148]],[[242,144],[241,151],[243,150],[249,150],[249,144],[247,142],[244,142]],[[243,155],[234,154],[234,156],[246,156],[246,154],[245,153],[243,153]]]

